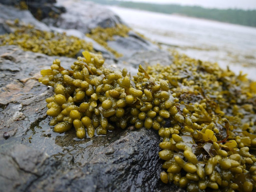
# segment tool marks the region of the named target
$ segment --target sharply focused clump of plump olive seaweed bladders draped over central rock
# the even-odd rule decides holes
[[[167,82],[156,82],[141,66],[131,81],[126,69],[102,67],[101,55],[83,55],[85,58],[78,57],[71,65],[72,71],[62,68],[60,60],[55,60],[51,69],[41,71],[39,81],[54,87],[55,95],[46,100],[47,114],[54,117],[50,122],[55,125],[54,131],[65,132],[74,125],[77,137],[82,139],[85,129],[87,136],[93,137],[95,130],[98,135],[106,134],[113,125],[124,129],[133,124],[137,129],[145,126],[156,130],[164,126],[164,118],[171,116],[168,107],[177,101]],[[160,104],[163,107],[159,108]]]

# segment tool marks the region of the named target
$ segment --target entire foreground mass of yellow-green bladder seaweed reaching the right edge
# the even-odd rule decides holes
[[[83,52],[72,70],[54,60],[39,79],[54,88],[47,115],[55,132],[79,139],[133,125],[158,131],[160,178],[187,191],[255,191],[255,82],[217,64],[173,53],[169,66],[147,71],[104,68]]]

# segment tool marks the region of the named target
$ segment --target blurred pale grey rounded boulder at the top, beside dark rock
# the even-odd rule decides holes
[[[42,20],[48,26],[63,29],[77,29],[86,34],[92,28],[115,27],[123,23],[120,18],[102,5],[90,1],[63,0],[60,4],[66,7],[67,12],[62,13],[58,18],[46,18]]]

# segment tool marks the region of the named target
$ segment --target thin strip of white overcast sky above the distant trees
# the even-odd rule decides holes
[[[207,8],[256,9],[256,0],[123,0],[145,3],[170,3],[182,5],[199,5]]]

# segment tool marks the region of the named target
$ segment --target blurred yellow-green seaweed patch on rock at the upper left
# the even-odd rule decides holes
[[[15,20],[12,27],[16,28],[14,33],[0,35],[0,45],[18,45],[25,51],[40,52],[50,56],[75,57],[81,49],[94,52],[92,43],[75,36],[41,31],[32,25],[20,25],[18,20]]]

